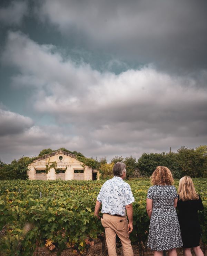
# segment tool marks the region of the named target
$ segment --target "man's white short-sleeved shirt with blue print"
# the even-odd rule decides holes
[[[102,185],[97,200],[102,203],[102,213],[120,216],[126,215],[126,205],[135,202],[130,185],[117,176]]]

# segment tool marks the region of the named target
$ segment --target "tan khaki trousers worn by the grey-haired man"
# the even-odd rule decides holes
[[[119,217],[103,213],[101,218],[102,226],[105,228],[106,243],[109,256],[116,254],[116,234],[121,240],[124,256],[133,256],[131,241],[129,239],[128,220],[126,216]]]

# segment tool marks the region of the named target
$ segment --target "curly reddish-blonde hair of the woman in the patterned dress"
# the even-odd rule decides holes
[[[153,185],[172,185],[174,182],[170,170],[165,166],[157,166],[150,179]]]

